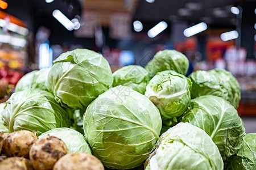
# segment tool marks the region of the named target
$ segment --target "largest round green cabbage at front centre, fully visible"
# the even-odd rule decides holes
[[[113,169],[143,164],[162,127],[158,108],[146,96],[121,85],[93,100],[83,120],[93,155]]]

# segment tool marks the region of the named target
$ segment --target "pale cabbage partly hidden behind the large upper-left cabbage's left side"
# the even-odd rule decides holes
[[[47,81],[48,73],[50,70],[51,68],[34,70],[34,71],[31,71],[30,73],[27,73],[16,84],[15,92],[30,89],[30,88],[38,88],[40,90],[48,91],[46,87],[46,81]]]

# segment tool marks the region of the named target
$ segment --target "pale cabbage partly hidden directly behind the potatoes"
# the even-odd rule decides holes
[[[84,136],[76,130],[69,128],[56,128],[43,133],[38,138],[40,139],[48,134],[60,138],[65,145],[67,145],[69,153],[86,152],[88,154],[92,154]]]

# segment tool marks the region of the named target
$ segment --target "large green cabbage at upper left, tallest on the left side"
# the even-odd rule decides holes
[[[113,75],[108,61],[88,49],[61,54],[48,75],[47,88],[55,100],[72,109],[85,108],[110,87]]]

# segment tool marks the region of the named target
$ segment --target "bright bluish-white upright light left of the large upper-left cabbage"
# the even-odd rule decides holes
[[[49,44],[43,43],[39,46],[39,69],[47,69],[52,66],[52,49]]]

